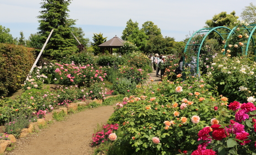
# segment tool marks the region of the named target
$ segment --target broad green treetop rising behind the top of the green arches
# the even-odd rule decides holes
[[[233,29],[235,26],[234,22],[236,22],[238,18],[238,16],[235,16],[235,11],[232,11],[230,14],[227,14],[227,12],[221,12],[218,15],[214,15],[213,19],[207,20],[205,24],[207,27],[226,26]]]

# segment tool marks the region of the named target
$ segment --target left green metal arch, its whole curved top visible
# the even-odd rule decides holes
[[[191,42],[192,38],[193,38],[195,35],[200,34],[200,33],[205,33],[205,32],[207,32],[207,33],[204,35],[203,39],[201,40],[200,44],[198,44],[198,45],[199,45],[199,48],[197,49],[197,74],[199,73],[199,55],[200,55],[200,51],[201,51],[203,42],[204,42],[204,40],[207,38],[207,36],[208,36],[209,34],[211,34],[212,32],[216,32],[216,33],[222,38],[222,40],[225,40],[225,38],[222,36],[222,35],[224,35],[224,34],[221,34],[221,33],[219,33],[219,31],[218,31],[218,30],[220,30],[220,29],[227,29],[227,30],[229,31],[229,33],[224,33],[225,35],[230,34],[230,32],[232,31],[232,30],[230,30],[229,28],[224,27],[224,26],[211,27],[211,28],[203,28],[203,29],[197,30],[195,33],[193,33],[193,35],[192,35],[192,36],[189,38],[189,40],[187,41],[187,44],[186,44],[185,50],[184,50],[184,54],[187,52],[187,47],[190,46],[190,42]],[[195,45],[196,45],[196,44],[195,44]],[[184,62],[184,60],[183,60],[183,62]],[[183,63],[183,65],[184,65],[184,63]]]

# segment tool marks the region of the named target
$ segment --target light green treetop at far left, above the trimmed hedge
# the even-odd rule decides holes
[[[10,29],[0,25],[0,43],[15,44],[16,39],[10,34]]]

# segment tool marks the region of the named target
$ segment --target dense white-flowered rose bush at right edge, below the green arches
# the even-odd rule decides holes
[[[255,95],[255,65],[252,58],[228,57],[218,55],[208,68],[209,84],[216,87],[219,94],[245,102],[247,97]]]

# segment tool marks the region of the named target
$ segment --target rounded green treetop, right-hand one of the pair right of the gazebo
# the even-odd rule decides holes
[[[142,29],[146,35],[161,35],[161,29],[158,28],[152,21],[146,21],[142,25]],[[161,35],[162,36],[162,35]]]

